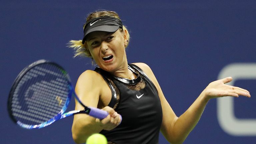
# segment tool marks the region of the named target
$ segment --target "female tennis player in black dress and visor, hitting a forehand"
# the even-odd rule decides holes
[[[108,143],[157,144],[160,131],[170,143],[182,143],[210,99],[251,97],[245,89],[226,85],[232,81],[227,77],[211,82],[188,110],[177,117],[150,67],[144,63],[128,64],[125,48],[130,37],[116,12],[89,14],[83,29],[83,39],[71,40],[70,47],[74,48],[75,56],[89,57],[98,67],[80,75],[75,91],[82,103],[109,115],[102,120],[75,115],[72,134],[76,143],[85,143],[91,134],[101,133]],[[83,110],[83,106],[76,102],[75,109]]]

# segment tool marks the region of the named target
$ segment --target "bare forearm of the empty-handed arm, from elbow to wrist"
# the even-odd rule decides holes
[[[189,133],[194,129],[205,106],[209,100],[205,99],[204,94],[201,93],[195,102],[184,112],[174,123],[173,134],[177,138],[178,143],[182,143]]]

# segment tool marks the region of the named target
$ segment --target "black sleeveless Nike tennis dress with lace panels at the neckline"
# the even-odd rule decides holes
[[[158,144],[162,123],[162,107],[155,85],[136,65],[128,68],[137,75],[129,80],[114,77],[96,68],[111,88],[112,99],[108,106],[122,116],[116,128],[100,133],[105,135],[109,144]]]

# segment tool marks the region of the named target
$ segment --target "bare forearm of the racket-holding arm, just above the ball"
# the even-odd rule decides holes
[[[93,133],[99,133],[102,127],[96,123],[95,118],[86,116],[77,119],[72,125],[72,136],[76,143],[85,143]]]

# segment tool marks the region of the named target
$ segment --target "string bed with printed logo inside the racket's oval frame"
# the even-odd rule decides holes
[[[18,83],[12,98],[15,119],[37,125],[56,116],[69,93],[64,70],[50,63],[30,69]]]

